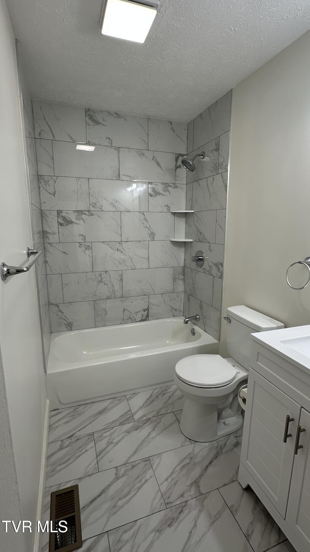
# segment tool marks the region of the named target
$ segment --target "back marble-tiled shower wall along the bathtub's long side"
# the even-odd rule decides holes
[[[33,100],[52,332],[181,316],[187,124]],[[93,152],[76,142],[95,145]]]

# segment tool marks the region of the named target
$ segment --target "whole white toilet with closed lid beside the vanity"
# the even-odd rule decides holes
[[[284,328],[244,305],[229,307],[225,320],[231,357],[196,354],[175,366],[174,381],[185,397],[180,429],[195,441],[213,441],[242,426],[238,391],[248,379],[251,333]]]

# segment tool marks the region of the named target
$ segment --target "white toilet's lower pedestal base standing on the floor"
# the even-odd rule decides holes
[[[208,443],[238,431],[243,425],[241,409],[229,408],[220,415],[215,404],[206,405],[185,397],[181,415],[181,432],[194,441]]]

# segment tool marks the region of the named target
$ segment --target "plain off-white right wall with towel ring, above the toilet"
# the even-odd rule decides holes
[[[310,285],[285,280],[310,256],[309,52],[310,32],[233,90],[223,316],[244,304],[286,326],[310,323]],[[225,333],[223,323],[222,344]]]

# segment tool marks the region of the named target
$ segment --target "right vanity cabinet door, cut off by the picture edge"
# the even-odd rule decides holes
[[[286,521],[307,550],[310,550],[310,413],[301,410],[300,434],[302,446],[295,455],[288,495]]]

